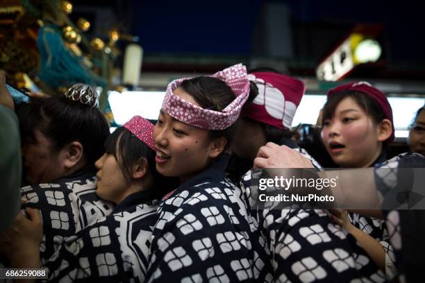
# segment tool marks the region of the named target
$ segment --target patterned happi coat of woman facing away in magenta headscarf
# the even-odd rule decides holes
[[[293,148],[313,165],[321,166],[302,148]],[[275,282],[351,282],[369,280],[376,272],[356,239],[335,225],[326,210],[314,209],[309,203],[279,208],[281,203],[260,207],[258,185],[252,182],[252,171],[240,181],[250,203],[258,230],[270,252]],[[353,246],[354,243],[354,246]]]

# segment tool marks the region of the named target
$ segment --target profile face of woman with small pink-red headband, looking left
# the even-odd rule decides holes
[[[96,194],[103,200],[120,203],[126,196],[126,180],[115,155],[104,153],[95,163],[97,168]]]

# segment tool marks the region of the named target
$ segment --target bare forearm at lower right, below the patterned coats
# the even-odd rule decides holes
[[[381,246],[381,243],[353,225],[347,228],[347,232],[356,238],[360,246],[365,249],[367,255],[371,257],[376,266],[378,266],[381,271],[385,272],[385,250],[383,246]]]

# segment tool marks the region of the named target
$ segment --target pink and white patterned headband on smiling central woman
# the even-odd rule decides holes
[[[238,119],[242,106],[249,96],[247,68],[238,64],[219,71],[211,77],[223,80],[236,96],[235,100],[222,112],[200,108],[174,94],[174,89],[181,85],[183,80],[190,78],[180,78],[169,83],[163,101],[163,111],[174,119],[197,128],[224,130],[230,127]]]

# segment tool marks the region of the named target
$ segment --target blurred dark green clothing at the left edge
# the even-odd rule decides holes
[[[0,105],[0,232],[21,207],[22,157],[19,124],[15,112]]]

